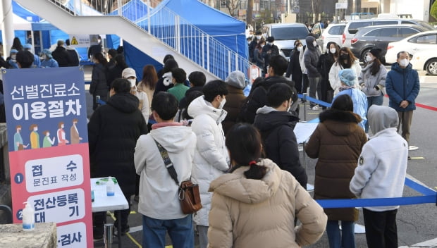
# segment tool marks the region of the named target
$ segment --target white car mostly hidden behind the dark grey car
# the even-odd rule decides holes
[[[369,27],[376,25],[395,25],[395,24],[414,24],[422,26],[428,30],[436,30],[434,27],[425,23],[423,20],[415,20],[415,19],[364,19],[364,20],[350,20],[346,23],[345,32],[343,32],[343,46],[350,47],[350,40],[354,37],[354,35],[358,32],[360,27]]]

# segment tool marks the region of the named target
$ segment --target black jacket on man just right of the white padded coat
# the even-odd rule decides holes
[[[261,132],[264,151],[284,171],[290,172],[307,188],[307,173],[300,164],[299,150],[293,129],[299,119],[287,111],[264,106],[257,111],[254,126]]]

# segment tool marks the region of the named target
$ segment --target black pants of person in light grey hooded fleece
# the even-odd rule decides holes
[[[369,248],[398,248],[398,209],[376,212],[363,209],[366,240]]]

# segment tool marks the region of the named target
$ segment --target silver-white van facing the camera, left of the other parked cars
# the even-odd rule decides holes
[[[275,37],[276,46],[278,46],[279,54],[285,58],[289,58],[294,49],[296,39],[300,39],[302,44],[307,44],[305,38],[309,31],[303,23],[273,23],[266,24],[261,27],[262,34],[266,37]]]

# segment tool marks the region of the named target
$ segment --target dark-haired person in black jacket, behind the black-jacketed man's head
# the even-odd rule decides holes
[[[269,77],[267,77],[263,82],[253,86],[252,97],[247,98],[247,106],[245,109],[242,109],[242,118],[244,118],[245,122],[254,123],[257,110],[267,104],[266,93],[272,85],[278,82],[283,82],[290,86],[293,92],[296,92],[295,82],[283,77],[287,68],[288,62],[283,56],[276,55],[271,57],[267,70]],[[243,104],[243,107],[244,106],[245,105]],[[291,110],[297,111],[297,107],[297,94],[293,94],[293,106],[291,107]]]

